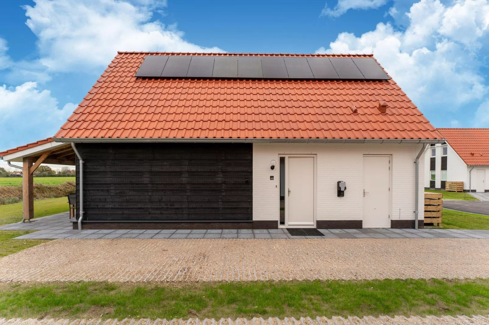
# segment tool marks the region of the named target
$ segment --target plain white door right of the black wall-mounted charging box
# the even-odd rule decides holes
[[[363,157],[363,227],[390,227],[390,157]]]

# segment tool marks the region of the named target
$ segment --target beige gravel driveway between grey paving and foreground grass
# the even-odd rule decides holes
[[[0,281],[477,277],[489,239],[61,239],[0,259]]]

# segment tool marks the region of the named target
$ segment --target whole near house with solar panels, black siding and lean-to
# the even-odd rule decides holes
[[[76,164],[79,229],[400,228],[442,142],[372,55],[119,52],[52,138],[0,156]]]

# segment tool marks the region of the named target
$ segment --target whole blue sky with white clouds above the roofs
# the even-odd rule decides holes
[[[0,151],[52,136],[117,50],[373,50],[436,127],[489,127],[487,0],[3,0],[0,6]]]

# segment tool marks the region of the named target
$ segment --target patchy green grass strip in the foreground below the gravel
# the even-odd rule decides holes
[[[0,284],[2,317],[487,315],[489,280]]]

